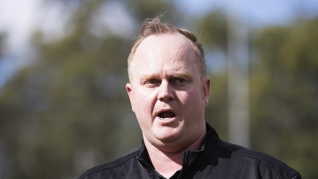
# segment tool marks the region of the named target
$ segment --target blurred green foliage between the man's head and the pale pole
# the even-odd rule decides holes
[[[210,97],[205,109],[205,120],[213,126],[220,137],[227,140],[227,74],[226,71],[211,73],[208,69],[207,53],[221,51],[226,53],[227,22],[221,11],[212,11],[193,24],[198,41],[204,46],[207,73],[210,73]],[[224,59],[225,60],[225,59]],[[213,63],[212,63],[213,64]]]

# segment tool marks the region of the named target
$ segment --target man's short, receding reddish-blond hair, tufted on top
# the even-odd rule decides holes
[[[154,19],[146,19],[141,25],[140,31],[136,36],[136,41],[133,44],[127,60],[128,76],[130,82],[132,82],[133,60],[137,47],[148,36],[165,33],[179,33],[184,35],[192,42],[193,48],[196,52],[196,55],[198,56],[200,73],[202,77],[206,75],[204,49],[203,46],[198,43],[196,36],[185,28],[180,28],[170,23],[161,22],[161,18],[163,17],[163,15],[163,13],[159,13]]]

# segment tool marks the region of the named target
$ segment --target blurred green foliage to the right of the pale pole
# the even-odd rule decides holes
[[[310,179],[318,177],[313,167],[318,161],[316,27],[318,19],[261,30],[250,84],[253,147]]]

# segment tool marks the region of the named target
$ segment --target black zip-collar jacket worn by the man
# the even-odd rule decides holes
[[[300,174],[267,154],[222,141],[206,124],[200,151],[183,152],[182,169],[170,179],[301,179]],[[164,179],[148,152],[139,151],[83,173],[79,179]]]

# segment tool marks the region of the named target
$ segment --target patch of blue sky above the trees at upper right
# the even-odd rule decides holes
[[[203,16],[213,9],[229,6],[241,9],[252,26],[286,24],[296,16],[318,15],[318,0],[176,0],[181,10],[193,16]],[[230,8],[229,7],[229,8]]]

